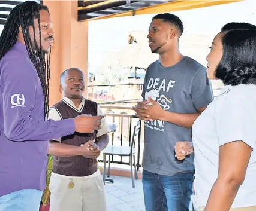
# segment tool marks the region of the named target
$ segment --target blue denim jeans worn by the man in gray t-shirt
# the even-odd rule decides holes
[[[146,211],[189,211],[194,173],[158,175],[143,170]]]

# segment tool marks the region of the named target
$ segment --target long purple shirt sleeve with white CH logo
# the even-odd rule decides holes
[[[51,140],[74,133],[73,119],[46,121],[32,115],[38,87],[37,72],[32,63],[13,59],[2,68],[0,77],[4,133],[9,140]]]

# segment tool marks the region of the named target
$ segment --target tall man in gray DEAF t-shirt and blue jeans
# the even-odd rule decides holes
[[[179,53],[183,25],[173,14],[158,14],[149,27],[149,47],[159,54],[146,72],[136,115],[145,123],[143,189],[146,211],[188,211],[194,154],[175,157],[174,146],[192,148],[191,127],[212,102],[206,69]]]

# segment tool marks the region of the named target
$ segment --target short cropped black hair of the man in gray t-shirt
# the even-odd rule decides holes
[[[152,20],[155,20],[155,19],[162,19],[164,22],[169,22],[173,24],[179,30],[179,33],[180,33],[179,36],[182,35],[184,31],[183,23],[179,19],[179,17],[175,16],[174,14],[170,14],[170,13],[157,14],[156,16],[153,17]]]

